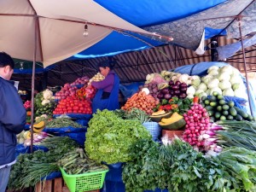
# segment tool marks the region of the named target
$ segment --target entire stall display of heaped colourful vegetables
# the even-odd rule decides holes
[[[38,93],[35,152],[23,150],[31,143],[30,131],[22,132],[25,147],[9,189],[63,177],[73,191],[81,186],[67,177],[99,171],[103,176],[91,189],[102,192],[254,191],[256,124],[241,73],[229,65],[208,67],[200,76],[180,70],[148,74],[122,108],[93,115],[96,90],[86,77]]]

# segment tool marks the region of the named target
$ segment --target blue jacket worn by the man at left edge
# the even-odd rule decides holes
[[[0,166],[15,160],[16,134],[26,124],[26,109],[18,91],[9,81],[0,78]]]

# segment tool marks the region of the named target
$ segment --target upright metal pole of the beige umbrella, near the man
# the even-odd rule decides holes
[[[33,153],[33,126],[34,126],[34,90],[35,90],[35,71],[36,71],[36,57],[37,57],[37,36],[38,36],[38,26],[37,26],[37,16],[34,15],[35,22],[35,36],[34,36],[34,55],[33,55],[33,66],[32,66],[32,93],[31,93],[31,145],[30,150]]]

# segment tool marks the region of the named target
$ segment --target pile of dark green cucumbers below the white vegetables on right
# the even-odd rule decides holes
[[[212,96],[203,96],[201,104],[207,109],[207,113],[212,121],[225,119],[237,121],[243,119],[253,120],[252,115],[244,112],[241,108],[237,108],[235,102],[226,102],[224,96],[219,95],[216,91],[212,93]]]

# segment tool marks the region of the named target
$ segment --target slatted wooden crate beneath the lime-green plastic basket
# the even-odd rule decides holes
[[[37,183],[35,186],[35,192],[70,192],[67,188],[63,178],[55,178],[53,180],[47,180]],[[100,189],[90,190],[88,192],[100,192]]]

